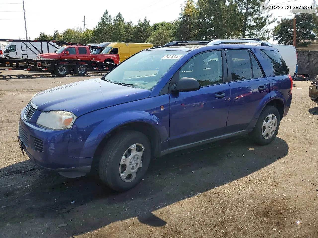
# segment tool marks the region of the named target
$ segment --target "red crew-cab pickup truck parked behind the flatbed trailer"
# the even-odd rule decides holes
[[[119,54],[91,54],[88,46],[62,46],[54,53],[38,54],[37,58],[46,59],[83,59],[119,64]]]

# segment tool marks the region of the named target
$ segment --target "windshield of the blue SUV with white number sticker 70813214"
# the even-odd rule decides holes
[[[112,83],[134,84],[137,88],[152,89],[161,77],[187,51],[145,50],[129,57],[102,79]]]

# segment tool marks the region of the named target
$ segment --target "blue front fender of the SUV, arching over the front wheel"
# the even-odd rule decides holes
[[[96,110],[76,119],[71,129],[68,153],[93,157],[100,142],[112,130],[134,122],[147,123],[158,132],[161,142],[169,136],[169,95],[161,95]]]

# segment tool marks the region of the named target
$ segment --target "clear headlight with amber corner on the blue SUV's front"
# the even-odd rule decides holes
[[[41,112],[37,125],[52,130],[70,129],[76,119],[76,116],[71,112],[66,111],[49,111]]]

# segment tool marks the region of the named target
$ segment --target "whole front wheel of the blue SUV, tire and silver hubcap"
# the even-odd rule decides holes
[[[115,191],[135,187],[146,173],[151,158],[151,146],[139,131],[122,131],[105,146],[100,156],[100,179]]]

